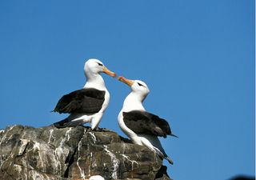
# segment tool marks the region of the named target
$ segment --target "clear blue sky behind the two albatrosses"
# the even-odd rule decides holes
[[[50,110],[98,58],[149,86],[146,110],[180,137],[161,139],[172,178],[254,175],[254,1],[3,0],[0,23],[0,128],[66,117]],[[103,77],[111,99],[100,126],[122,134],[130,89]]]

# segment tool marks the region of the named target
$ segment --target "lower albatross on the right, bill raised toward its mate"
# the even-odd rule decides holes
[[[165,158],[170,164],[173,164],[162,148],[158,136],[163,138],[166,138],[167,135],[177,136],[172,134],[165,119],[147,112],[142,105],[147,94],[150,93],[148,86],[140,80],[130,80],[124,77],[119,77],[118,80],[125,82],[131,88],[131,92],[123,102],[122,110],[118,114],[118,125],[121,130],[135,144],[148,147],[162,159]]]

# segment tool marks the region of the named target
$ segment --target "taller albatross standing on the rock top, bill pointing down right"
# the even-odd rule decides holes
[[[78,126],[90,122],[92,130],[98,128],[110,101],[110,93],[106,89],[100,73],[106,73],[111,77],[115,77],[116,74],[95,58],[85,62],[84,72],[87,79],[85,86],[81,90],[75,90],[62,96],[58,100],[53,111],[70,115],[60,122],[55,122],[55,127]]]

